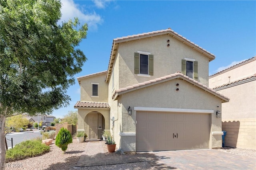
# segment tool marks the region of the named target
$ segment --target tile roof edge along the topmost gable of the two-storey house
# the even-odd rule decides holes
[[[114,58],[115,58],[115,55],[116,55],[116,51],[118,49],[118,43],[131,41],[131,40],[135,40],[135,39],[153,37],[153,36],[156,36],[156,35],[163,35],[163,34],[170,34],[171,36],[180,40],[182,43],[186,43],[187,45],[189,45],[193,49],[196,49],[197,51],[200,51],[202,54],[208,56],[209,61],[212,61],[212,60],[215,59],[214,54],[210,53],[209,51],[206,51],[205,49],[203,49],[199,45],[193,43],[192,41],[188,40],[186,37],[183,37],[182,35],[176,33],[175,31],[173,31],[170,28],[163,29],[163,30],[160,30],[160,31],[152,31],[152,32],[147,32],[147,33],[128,35],[126,37],[119,37],[119,38],[113,39],[112,49],[111,49],[111,53],[110,53],[110,60],[109,60],[109,64],[108,64],[108,72],[107,72],[107,75],[106,75],[106,82],[108,82],[108,78],[110,77],[110,74],[112,72],[112,66],[113,66],[113,63],[114,63]]]

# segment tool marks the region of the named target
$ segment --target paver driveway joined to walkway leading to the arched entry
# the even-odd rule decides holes
[[[100,141],[90,141],[76,167],[148,162],[156,169],[255,170],[256,160],[214,149],[139,152],[106,156]]]

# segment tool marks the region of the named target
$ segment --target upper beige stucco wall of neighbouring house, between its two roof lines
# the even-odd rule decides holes
[[[241,78],[251,76],[256,73],[256,58],[245,62],[244,64],[234,66],[226,71],[216,74],[215,76],[210,76],[209,87],[214,88],[228,82],[234,82],[240,80]],[[228,78],[230,76],[230,78]]]

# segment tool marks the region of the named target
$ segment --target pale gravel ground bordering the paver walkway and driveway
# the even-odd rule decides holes
[[[116,153],[108,153],[104,141],[102,146],[106,156],[117,156]],[[16,162],[8,162],[6,164],[6,170],[74,170],[76,162],[78,162],[80,155],[84,151],[86,143],[78,143],[76,139],[73,139],[73,143],[68,145],[66,153],[63,154],[62,150],[55,145],[55,141],[50,145],[50,152],[37,156],[34,158],[28,158],[19,160]],[[248,156],[250,158],[256,158],[256,150],[253,149],[239,149],[224,147],[223,149],[217,149],[220,152],[228,152],[231,154],[237,154],[241,156]],[[128,153],[136,154],[136,153]],[[121,155],[122,156],[122,155]],[[8,167],[9,166],[9,167]],[[93,166],[93,167],[81,167],[76,168],[78,170],[153,170],[155,169],[148,162],[136,162],[129,164],[116,164],[107,166]]]

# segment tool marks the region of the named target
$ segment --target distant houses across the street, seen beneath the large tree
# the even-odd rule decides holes
[[[44,125],[51,125],[51,123],[54,120],[54,116],[52,115],[35,115],[35,116],[30,116],[27,114],[22,114],[23,117],[25,117],[28,120],[33,120],[32,122],[40,123],[42,121],[42,126]]]

